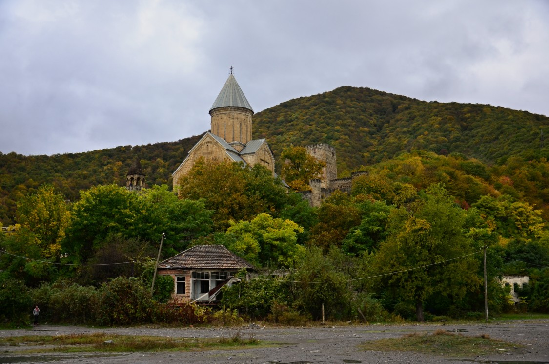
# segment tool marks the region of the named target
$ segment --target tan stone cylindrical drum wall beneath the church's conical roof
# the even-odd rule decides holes
[[[222,107],[211,111],[211,133],[228,143],[251,140],[251,115],[253,112],[239,107]]]

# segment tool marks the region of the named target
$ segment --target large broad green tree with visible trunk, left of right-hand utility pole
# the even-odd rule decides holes
[[[424,321],[426,300],[437,295],[459,300],[475,289],[478,261],[466,256],[474,250],[463,233],[465,219],[466,212],[439,184],[427,190],[413,213],[395,209],[389,218],[391,233],[371,265],[371,275],[385,275],[372,279],[372,288],[382,286],[386,293],[413,302],[418,321]]]

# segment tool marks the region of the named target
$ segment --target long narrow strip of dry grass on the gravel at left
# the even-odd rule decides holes
[[[109,341],[110,340],[110,341]],[[108,341],[105,343],[105,341]],[[26,352],[128,352],[165,350],[208,350],[259,345],[254,337],[244,339],[240,332],[229,338],[169,338],[106,333],[70,335],[27,335],[0,338],[0,345],[25,345]],[[53,348],[43,348],[52,346]]]

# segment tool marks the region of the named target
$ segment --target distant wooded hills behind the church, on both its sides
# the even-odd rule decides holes
[[[507,165],[509,157],[519,158],[513,166],[520,161],[543,164],[541,158],[549,156],[543,137],[548,133],[549,118],[544,115],[340,87],[257,113],[253,136],[266,138],[275,158],[291,144],[331,144],[337,151],[341,177],[412,150],[461,153],[487,164]],[[43,183],[52,183],[71,201],[79,198],[80,190],[93,185],[123,185],[135,157],[141,159],[149,185],[169,183],[171,173],[199,138],[54,156],[0,153],[0,223],[13,224],[16,201]],[[514,172],[518,169],[512,168]],[[545,181],[544,175],[536,176],[537,185]],[[536,188],[527,195],[536,196],[530,200],[538,205],[548,201],[539,193]]]

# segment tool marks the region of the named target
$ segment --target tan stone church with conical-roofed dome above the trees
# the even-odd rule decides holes
[[[231,74],[210,108],[211,124],[207,132],[189,151],[187,158],[173,172],[173,190],[182,175],[189,172],[198,158],[259,163],[275,175],[275,157],[265,139],[251,139],[251,108],[244,92]]]

